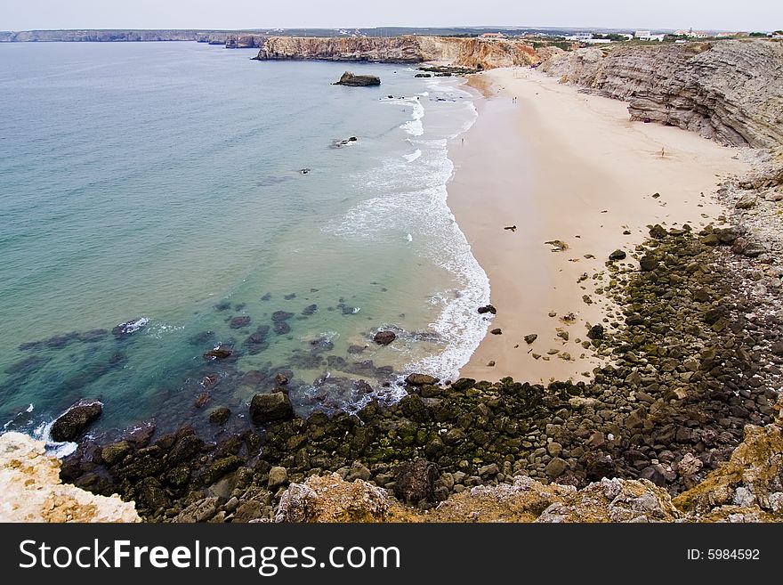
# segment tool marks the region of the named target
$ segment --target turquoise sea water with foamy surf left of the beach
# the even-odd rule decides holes
[[[461,81],[251,56],[0,45],[5,428],[83,397],[104,403],[96,433],[219,405],[241,425],[280,369],[301,414],[351,410],[478,345],[488,281],[446,205],[448,145],[476,116]],[[331,85],[345,69],[383,85]],[[207,361],[218,344],[233,354]]]

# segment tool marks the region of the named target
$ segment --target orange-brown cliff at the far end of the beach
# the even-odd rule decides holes
[[[439,63],[493,69],[537,63],[533,47],[512,39],[451,37],[268,37],[258,60],[324,59],[386,63]]]

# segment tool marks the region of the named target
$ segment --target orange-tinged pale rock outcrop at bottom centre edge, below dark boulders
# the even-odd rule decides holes
[[[340,475],[292,483],[280,498],[275,522],[385,522],[394,502],[383,488]]]

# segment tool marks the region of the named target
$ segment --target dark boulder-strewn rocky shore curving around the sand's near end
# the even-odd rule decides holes
[[[776,428],[780,280],[764,244],[740,227],[656,225],[631,257],[607,260],[604,290],[621,311],[585,330],[585,350],[612,358],[590,383],[412,376],[400,402],[371,402],[355,416],[301,419],[277,409],[216,443],[189,427],[160,437],[148,427],[108,445],[85,440],[61,477],[117,492],[157,522],[271,519],[289,484],[331,473],[371,482],[416,514],[477,486],[529,491],[533,481],[573,490],[644,480],[645,490],[658,486],[659,497],[676,501],[731,459],[747,425]],[[287,402],[285,386],[264,396],[276,394]],[[680,517],[668,514],[659,519]]]

